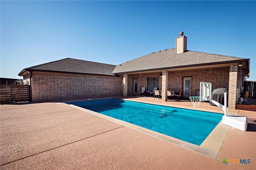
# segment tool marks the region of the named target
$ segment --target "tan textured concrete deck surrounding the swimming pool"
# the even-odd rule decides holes
[[[156,99],[154,102],[170,105]],[[209,105],[201,107],[211,109]],[[232,112],[248,117],[248,131],[230,128],[214,160],[126,127],[132,124],[119,125],[65,104],[0,105],[0,111],[1,169],[253,169],[256,166],[255,112]],[[225,165],[221,162],[223,158],[250,159],[251,164]]]

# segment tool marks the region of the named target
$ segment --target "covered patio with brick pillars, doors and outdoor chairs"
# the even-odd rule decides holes
[[[160,91],[163,101],[173,99],[170,92],[175,92],[177,98],[188,100],[190,96],[198,96],[200,91],[200,82],[212,83],[212,90],[218,88],[229,89],[228,107],[236,109],[236,98],[238,97],[240,87],[242,86],[241,73],[237,70],[238,66],[210,67],[210,68],[184,68],[167,69],[159,71],[141,71],[131,72],[122,75],[123,97],[144,95],[149,96],[154,88]],[[236,74],[234,75],[234,70]],[[142,91],[145,87],[145,91]],[[236,87],[234,89],[234,87]],[[239,88],[238,88],[239,87]],[[140,93],[144,92],[144,93]],[[169,95],[168,95],[169,92]]]

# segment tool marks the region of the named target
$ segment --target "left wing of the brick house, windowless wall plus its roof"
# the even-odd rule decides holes
[[[65,58],[23,69],[18,75],[32,88],[32,102],[122,95],[116,65]]]

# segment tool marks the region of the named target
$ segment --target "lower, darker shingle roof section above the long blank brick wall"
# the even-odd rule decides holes
[[[49,63],[35,65],[26,69],[31,70],[46,70],[46,71],[60,71],[71,73],[87,73],[99,75],[114,75],[112,71],[116,65],[96,63],[92,61],[84,61],[80,59],[65,58]]]

